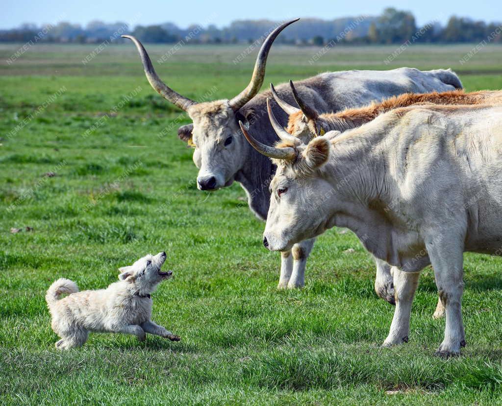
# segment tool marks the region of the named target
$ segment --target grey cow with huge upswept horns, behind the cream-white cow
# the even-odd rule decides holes
[[[266,60],[272,42],[294,21],[279,26],[264,41],[252,80],[242,92],[230,100],[203,103],[196,103],[163,83],[155,73],[143,45],[134,37],[124,36],[134,41],[138,48],[145,74],[152,87],[167,100],[185,110],[193,121],[193,124],[180,127],[178,136],[195,148],[193,161],[199,168],[199,189],[215,190],[237,181],[247,194],[249,208],[261,220],[267,218],[269,183],[276,168],[269,159],[249,146],[237,122],[241,120],[248,129],[260,134],[263,142],[274,143],[278,140],[267,117],[266,102],[271,93],[258,92],[263,84]],[[449,70],[421,72],[417,69],[400,68],[391,71],[322,73],[295,82],[295,86],[303,99],[317,111],[328,112],[401,93],[453,90],[460,88],[462,84]],[[277,92],[283,99],[293,103],[287,84],[279,85]],[[277,104],[274,103],[272,108],[280,120],[286,120],[286,113]],[[301,242],[292,250],[282,253],[279,288],[304,285],[305,263],[312,245],[313,241]]]

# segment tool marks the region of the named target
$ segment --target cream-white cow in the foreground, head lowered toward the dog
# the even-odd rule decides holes
[[[420,271],[432,264],[446,309],[437,353],[459,354],[463,252],[502,253],[502,107],[399,108],[307,145],[286,139],[270,147],[244,135],[278,165],[264,233],[269,250],[333,226],[352,230],[396,267],[385,346],[408,341]]]

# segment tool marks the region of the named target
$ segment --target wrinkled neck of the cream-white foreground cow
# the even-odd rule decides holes
[[[350,229],[376,258],[400,266],[391,233],[395,219],[385,178],[385,156],[375,153],[381,139],[382,134],[364,134],[348,143],[334,143],[331,158],[322,169],[336,196],[326,228]]]

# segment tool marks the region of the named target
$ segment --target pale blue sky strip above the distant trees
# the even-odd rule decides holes
[[[215,24],[221,28],[233,20],[270,19],[283,21],[295,17],[317,17],[331,20],[339,17],[378,15],[386,7],[413,12],[417,23],[445,23],[455,14],[474,20],[502,21],[501,0],[121,0],[61,1],[61,0],[2,0],[0,29],[15,28],[23,23],[57,23],[68,21],[85,25],[92,20],[105,23],[117,21],[136,26],[172,22],[181,28],[191,24]]]

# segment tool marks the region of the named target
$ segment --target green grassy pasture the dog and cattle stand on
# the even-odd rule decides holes
[[[462,356],[433,356],[444,321],[431,317],[430,268],[410,342],[381,349],[394,308],[374,294],[374,263],[354,235],[319,238],[305,289],[277,291],[264,224],[239,185],[196,189],[192,150],[176,136],[189,120],[150,88],[132,44],[86,65],[93,47],[36,46],[9,65],[19,47],[0,46],[0,403],[502,402],[499,258],[465,255]],[[468,90],[501,89],[502,47],[461,65],[471,48],[413,46],[386,65],[395,47],[333,48],[315,64],[319,49],[275,47],[266,83],[413,66],[451,67]],[[148,49],[156,61],[170,47]],[[232,62],[243,51],[186,46],[155,65],[186,96],[231,97],[254,63],[256,53]],[[181,342],[94,334],[55,350],[44,300],[52,281],[105,287],[118,267],[162,250],[175,278],[154,294],[154,320]]]

